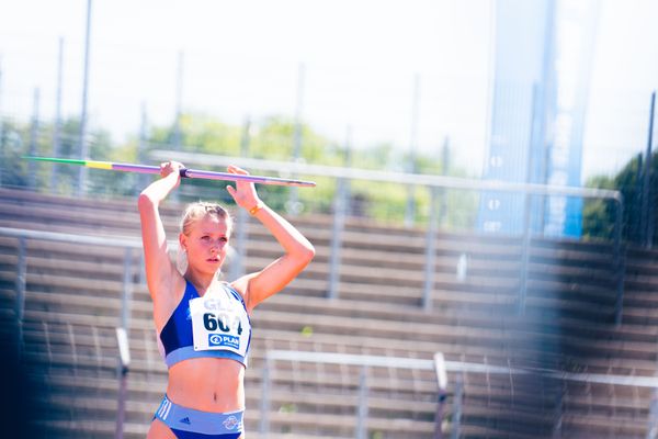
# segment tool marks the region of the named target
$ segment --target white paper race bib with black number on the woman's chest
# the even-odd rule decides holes
[[[249,323],[247,313],[226,291],[207,292],[190,301],[194,350],[228,350],[243,356]]]

